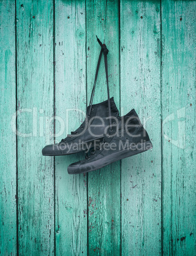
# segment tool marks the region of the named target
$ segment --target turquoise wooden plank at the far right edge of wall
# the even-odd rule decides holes
[[[162,1],[163,248],[195,255],[195,1]]]

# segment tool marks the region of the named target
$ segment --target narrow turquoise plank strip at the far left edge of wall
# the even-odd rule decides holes
[[[17,254],[15,2],[0,2],[0,255]]]

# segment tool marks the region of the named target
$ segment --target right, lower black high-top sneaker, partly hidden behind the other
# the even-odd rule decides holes
[[[141,124],[135,110],[131,110],[124,117],[118,118],[118,122],[108,129],[108,134],[96,150],[86,155],[84,160],[68,166],[69,174],[87,173],[112,162],[131,157],[152,148],[148,133]]]

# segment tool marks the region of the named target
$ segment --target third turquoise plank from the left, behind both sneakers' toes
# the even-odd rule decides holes
[[[86,109],[85,1],[55,2],[55,140],[77,129]],[[64,126],[64,127],[63,127]],[[62,129],[62,132],[59,132]],[[87,255],[87,176],[67,166],[83,153],[55,157],[57,255]]]

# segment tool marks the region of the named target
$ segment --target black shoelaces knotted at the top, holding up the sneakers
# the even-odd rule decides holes
[[[99,59],[98,59],[98,62],[97,62],[97,69],[96,69],[96,73],[95,73],[94,86],[93,86],[92,93],[91,93],[91,96],[90,96],[90,103],[89,103],[90,108],[88,110],[87,117],[90,117],[90,113],[92,111],[92,103],[93,103],[93,98],[94,98],[95,86],[96,86],[96,83],[97,83],[97,76],[98,76],[98,73],[99,73],[99,67],[100,67],[100,64],[101,64],[101,57],[102,57],[102,53],[103,53],[104,54],[105,71],[106,71],[107,93],[108,93],[108,112],[109,112],[109,117],[110,117],[109,118],[109,125],[111,127],[111,104],[110,104],[110,101],[109,101],[108,58],[107,58],[109,50],[108,50],[108,48],[106,47],[105,44],[101,43],[99,38],[97,38],[97,41],[98,41],[99,45],[101,46],[101,52],[99,53]],[[83,129],[83,125],[81,125],[80,128]],[[73,137],[72,135],[76,135],[76,134],[78,134],[78,132],[74,131],[74,132],[71,132],[71,134],[67,134],[67,137],[72,138]],[[61,142],[66,142],[66,139],[62,139]]]

